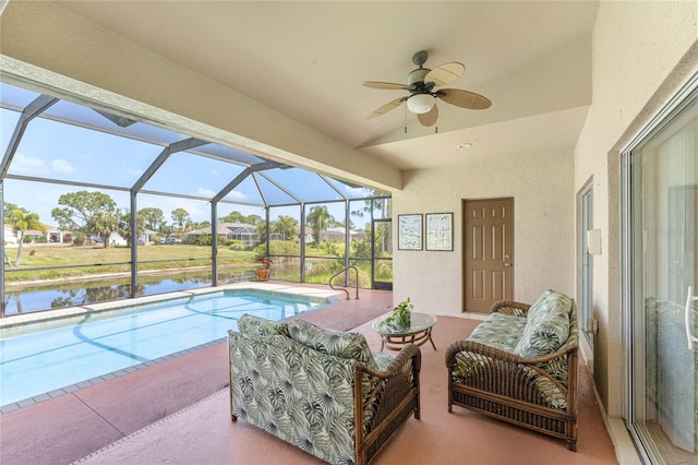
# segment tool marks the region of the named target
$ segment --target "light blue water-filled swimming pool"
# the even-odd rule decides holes
[[[50,398],[86,380],[113,378],[222,339],[244,313],[284,320],[329,305],[316,297],[228,289],[5,329],[0,334],[0,406]]]

